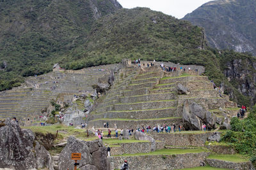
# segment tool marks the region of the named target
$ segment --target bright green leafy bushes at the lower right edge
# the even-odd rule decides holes
[[[256,165],[256,106],[247,118],[232,118],[230,125],[231,131],[223,133],[221,141],[236,148],[240,154],[250,156]]]

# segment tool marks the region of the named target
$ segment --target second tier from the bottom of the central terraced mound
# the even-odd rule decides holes
[[[136,110],[136,111],[109,111],[101,114],[90,115],[90,120],[99,118],[131,118],[131,119],[145,119],[145,118],[164,118],[164,117],[182,117],[181,113],[176,113],[176,108],[162,108],[150,110]]]

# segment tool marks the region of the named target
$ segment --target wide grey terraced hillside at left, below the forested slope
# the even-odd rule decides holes
[[[88,67],[72,71],[60,70],[40,76],[30,76],[21,87],[0,92],[0,118],[33,118],[58,96],[74,96],[92,92],[92,85],[101,76],[120,64]]]

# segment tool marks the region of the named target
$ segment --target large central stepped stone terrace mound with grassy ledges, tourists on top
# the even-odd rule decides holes
[[[159,66],[141,66],[139,69],[132,64],[125,67],[116,76],[111,90],[97,101],[97,107],[88,118],[88,126],[102,127],[104,122],[108,122],[111,128],[115,124],[117,128],[182,124],[185,100],[202,104],[207,110],[236,108],[236,103],[229,101],[227,96],[220,97],[207,76],[200,75],[204,68],[198,67],[198,72],[177,69],[170,73]],[[191,93],[178,95],[178,83]]]

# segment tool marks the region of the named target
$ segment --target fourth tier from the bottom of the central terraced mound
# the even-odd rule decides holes
[[[176,99],[176,94],[173,92],[161,93],[161,94],[144,94],[140,96],[120,97],[119,103],[137,103],[145,101],[161,101],[161,100],[173,100]]]

